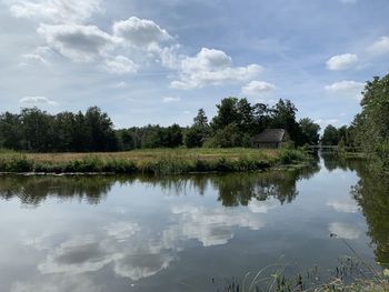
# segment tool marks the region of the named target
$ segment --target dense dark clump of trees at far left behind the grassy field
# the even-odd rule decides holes
[[[38,108],[0,115],[0,147],[33,152],[113,151],[118,149],[113,124],[99,108],[83,114],[49,114]]]

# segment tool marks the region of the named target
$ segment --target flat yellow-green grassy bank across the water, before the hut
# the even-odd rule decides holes
[[[179,174],[189,172],[257,171],[301,164],[309,155],[300,150],[157,149],[108,153],[0,152],[0,172],[113,172]]]

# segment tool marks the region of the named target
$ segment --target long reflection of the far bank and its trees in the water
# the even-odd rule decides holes
[[[6,200],[19,198],[22,204],[38,207],[50,197],[86,200],[98,204],[117,183],[132,184],[142,182],[158,187],[169,194],[184,194],[194,189],[203,194],[207,187],[216,188],[219,201],[225,207],[248,205],[253,199],[265,201],[269,197],[277,198],[281,204],[290,203],[297,197],[296,182],[309,179],[320,170],[318,164],[300,170],[197,174],[182,177],[0,177],[0,197]]]

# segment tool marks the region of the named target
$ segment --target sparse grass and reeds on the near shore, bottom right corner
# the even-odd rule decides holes
[[[232,279],[223,292],[389,292],[389,270],[376,270],[367,262],[347,240],[331,233],[340,240],[353,256],[343,256],[333,269],[320,271],[318,266],[286,275],[285,264],[272,264],[256,274],[247,273],[242,281]],[[215,283],[215,279],[212,279]]]

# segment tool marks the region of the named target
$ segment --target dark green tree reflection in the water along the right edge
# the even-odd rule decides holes
[[[357,172],[360,181],[352,187],[351,194],[366,217],[377,262],[389,268],[389,177],[371,172],[363,163]]]

